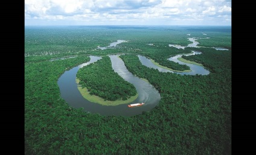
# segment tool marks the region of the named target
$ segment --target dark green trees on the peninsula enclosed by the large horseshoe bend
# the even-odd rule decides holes
[[[100,96],[104,100],[127,100],[136,95],[135,87],[114,72],[109,57],[79,69],[77,78],[79,84],[86,87],[91,95]]]

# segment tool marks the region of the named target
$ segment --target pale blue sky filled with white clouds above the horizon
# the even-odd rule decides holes
[[[25,25],[228,25],[231,0],[25,0]]]

